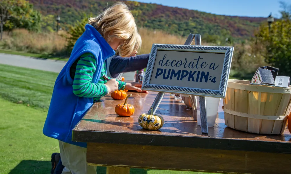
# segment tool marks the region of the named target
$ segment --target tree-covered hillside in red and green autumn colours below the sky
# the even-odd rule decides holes
[[[61,27],[66,29],[76,20],[97,15],[116,1],[105,0],[29,0],[44,16],[47,30],[55,30],[55,16],[61,16]],[[124,1],[132,10],[141,27],[160,29],[170,34],[186,36],[191,33],[220,35],[237,39],[249,39],[265,18],[215,15],[197,10],[173,8],[154,3]]]

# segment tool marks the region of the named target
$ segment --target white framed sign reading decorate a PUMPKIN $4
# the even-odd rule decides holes
[[[153,44],[142,89],[225,98],[233,47]]]

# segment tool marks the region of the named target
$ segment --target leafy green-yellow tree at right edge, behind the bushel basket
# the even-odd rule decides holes
[[[291,21],[278,20],[268,26],[262,25],[255,34],[257,44],[265,46],[263,54],[267,63],[279,68],[280,75],[291,76]]]

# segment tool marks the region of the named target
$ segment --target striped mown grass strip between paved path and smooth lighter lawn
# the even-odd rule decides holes
[[[11,102],[48,109],[58,73],[0,64],[0,96]]]

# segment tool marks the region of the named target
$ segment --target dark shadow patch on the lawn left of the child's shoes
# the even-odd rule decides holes
[[[50,173],[50,161],[23,160],[9,174]]]

